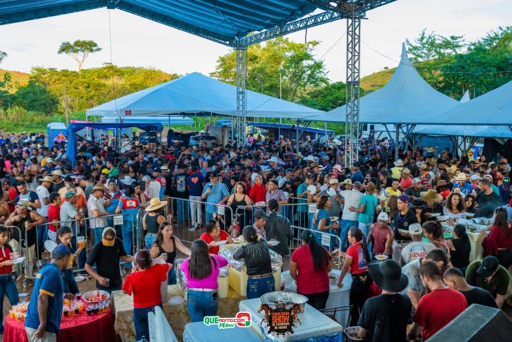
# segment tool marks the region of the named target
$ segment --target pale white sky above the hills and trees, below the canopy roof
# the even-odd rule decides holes
[[[510,0],[398,0],[371,10],[366,18],[362,21],[361,76],[397,66],[402,41],[412,41],[423,28],[474,41],[498,26],[511,25],[512,6]],[[314,53],[317,58],[323,56],[332,82],[346,78],[345,32],[345,20],[307,30],[308,40],[321,41]],[[286,37],[303,42],[305,32]],[[22,72],[30,72],[33,66],[76,70],[73,59],[57,54],[62,41],[76,39],[94,40],[103,48],[90,55],[83,68],[112,61],[117,66],[208,75],[215,70],[218,57],[230,52],[213,41],[104,8],[0,26],[0,50],[8,53],[0,68]]]

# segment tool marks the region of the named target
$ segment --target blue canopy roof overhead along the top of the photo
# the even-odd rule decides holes
[[[308,0],[16,0],[0,1],[0,24],[104,7],[119,8],[223,44],[317,9]]]

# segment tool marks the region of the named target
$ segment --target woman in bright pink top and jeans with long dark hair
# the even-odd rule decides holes
[[[190,320],[202,322],[204,316],[217,315],[217,276],[220,267],[228,265],[228,260],[215,254],[210,256],[208,244],[200,239],[192,243],[190,251],[190,258],[186,258],[179,269],[187,278],[187,311]]]

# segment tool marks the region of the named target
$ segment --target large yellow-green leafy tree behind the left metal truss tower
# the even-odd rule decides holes
[[[295,101],[311,88],[328,84],[324,62],[313,56],[318,41],[295,43],[279,37],[264,44],[253,44],[246,53],[246,87],[274,97]],[[215,72],[223,82],[236,83],[235,52],[217,59]]]

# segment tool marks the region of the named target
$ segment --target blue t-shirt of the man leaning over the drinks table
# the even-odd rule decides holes
[[[28,304],[25,326],[36,329],[39,327],[37,297],[40,293],[48,294],[48,310],[46,311],[46,332],[59,334],[62,317],[62,298],[64,285],[61,270],[54,263],[43,266],[36,276],[32,301]]]

